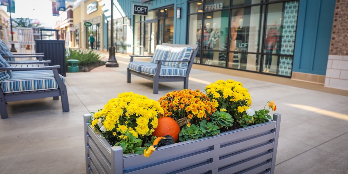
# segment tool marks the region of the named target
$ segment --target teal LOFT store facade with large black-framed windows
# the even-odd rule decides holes
[[[198,44],[196,64],[324,84],[335,1],[114,1],[128,18],[131,54],[157,44]],[[148,15],[134,14],[147,6]],[[115,10],[114,10],[115,11]],[[127,37],[127,43],[131,38]],[[127,52],[129,54],[129,52]],[[271,78],[272,76],[270,76]]]

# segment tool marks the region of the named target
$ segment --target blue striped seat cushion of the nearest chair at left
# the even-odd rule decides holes
[[[61,79],[65,83],[64,77]],[[58,84],[52,70],[13,71],[10,79],[1,83],[4,93],[57,89]]]

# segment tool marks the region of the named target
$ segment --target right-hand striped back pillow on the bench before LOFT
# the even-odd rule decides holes
[[[192,54],[192,47],[173,47],[169,54],[168,61],[189,60]],[[188,62],[164,62],[166,66],[187,69]]]

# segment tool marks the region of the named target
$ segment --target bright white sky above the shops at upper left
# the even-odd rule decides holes
[[[6,6],[1,7],[7,10]],[[48,28],[53,28],[55,25],[57,16],[52,16],[50,0],[15,0],[15,8],[16,13],[11,13],[11,17],[37,19]]]

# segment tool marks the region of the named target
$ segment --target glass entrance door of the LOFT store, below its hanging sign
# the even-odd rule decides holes
[[[145,23],[144,55],[153,55],[157,45],[157,21]]]

